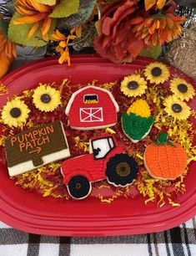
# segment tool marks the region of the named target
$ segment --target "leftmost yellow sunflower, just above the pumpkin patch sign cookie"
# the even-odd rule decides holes
[[[2,111],[3,123],[10,127],[21,127],[27,121],[29,112],[28,106],[22,100],[8,101]]]

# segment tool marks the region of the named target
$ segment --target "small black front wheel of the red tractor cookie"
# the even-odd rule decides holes
[[[68,182],[68,193],[75,199],[83,199],[88,197],[91,192],[91,183],[83,176],[72,177]]]

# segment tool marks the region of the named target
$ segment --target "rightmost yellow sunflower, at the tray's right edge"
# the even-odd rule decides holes
[[[181,79],[179,77],[171,80],[170,90],[180,100],[193,99],[193,96],[195,95],[195,90],[193,89],[193,85],[188,84],[185,79]]]

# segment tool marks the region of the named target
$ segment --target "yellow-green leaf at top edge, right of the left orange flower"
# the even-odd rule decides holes
[[[60,3],[53,9],[50,17],[65,18],[73,13],[77,13],[79,8],[79,0],[61,0]]]

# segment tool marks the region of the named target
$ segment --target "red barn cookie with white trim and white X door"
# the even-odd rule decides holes
[[[65,114],[76,130],[94,130],[117,122],[118,104],[108,90],[89,85],[73,93]]]

